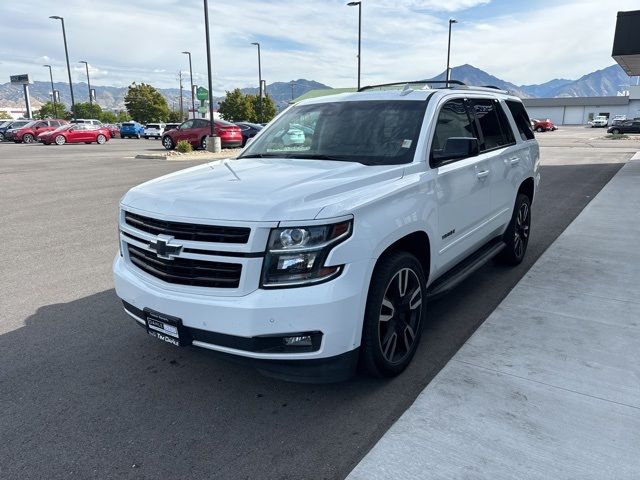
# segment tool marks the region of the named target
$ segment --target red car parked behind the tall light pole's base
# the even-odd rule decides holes
[[[214,120],[214,128],[216,135],[220,137],[222,147],[242,146],[242,131],[237,125],[224,120]],[[194,148],[205,149],[209,132],[209,120],[202,118],[187,120],[178,128],[165,132],[162,136],[162,145],[167,150],[173,150],[180,140],[186,140]]]

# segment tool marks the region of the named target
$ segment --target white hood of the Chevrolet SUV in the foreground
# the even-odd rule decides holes
[[[330,160],[215,161],[135,187],[122,204],[150,213],[209,220],[311,220],[325,206],[363,189],[371,189],[374,196],[374,185],[396,181],[403,171],[403,165]]]

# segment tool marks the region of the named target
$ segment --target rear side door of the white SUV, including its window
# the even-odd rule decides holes
[[[511,218],[515,190],[510,178],[511,169],[518,167],[522,158],[516,147],[511,125],[496,98],[472,98],[471,109],[480,137],[480,158],[488,165],[487,183],[491,190],[488,224],[499,230]]]

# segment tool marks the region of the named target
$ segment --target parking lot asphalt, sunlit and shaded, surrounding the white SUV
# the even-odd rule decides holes
[[[275,381],[154,341],[113,291],[117,203],[195,162],[159,144],[0,144],[0,478],[344,478],[638,148],[565,128],[538,135],[542,184],[525,262],[486,265],[429,306],[392,380]]]

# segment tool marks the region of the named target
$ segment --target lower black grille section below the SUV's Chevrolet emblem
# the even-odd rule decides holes
[[[165,260],[135,245],[127,244],[129,259],[140,270],[168,283],[195,287],[238,288],[242,265],[190,258]]]

